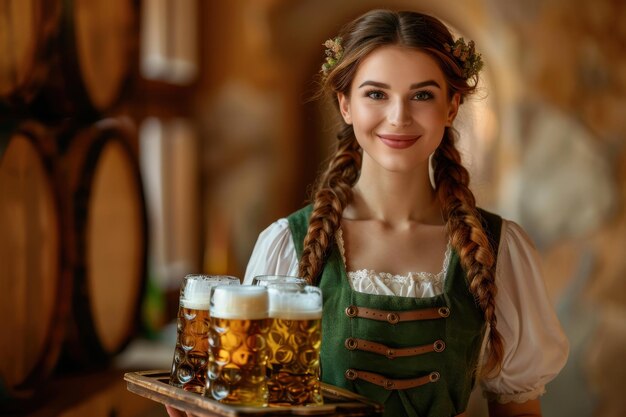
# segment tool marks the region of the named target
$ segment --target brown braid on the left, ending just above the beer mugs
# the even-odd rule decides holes
[[[352,186],[361,166],[360,147],[352,126],[344,125],[337,138],[337,151],[314,189],[313,212],[299,265],[299,275],[313,285],[319,280],[343,210],[352,199]]]

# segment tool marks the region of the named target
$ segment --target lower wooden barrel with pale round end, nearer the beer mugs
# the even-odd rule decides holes
[[[65,359],[106,363],[135,335],[146,276],[147,221],[134,130],[103,120],[62,156],[74,292]]]

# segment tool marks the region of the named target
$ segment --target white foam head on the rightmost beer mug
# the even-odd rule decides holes
[[[297,288],[297,287],[296,287]],[[321,294],[284,291],[270,287],[270,317],[283,320],[317,320],[322,318]]]

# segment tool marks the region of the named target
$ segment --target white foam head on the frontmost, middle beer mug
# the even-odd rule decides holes
[[[267,288],[252,285],[218,286],[213,290],[211,317],[259,320],[268,317]]]

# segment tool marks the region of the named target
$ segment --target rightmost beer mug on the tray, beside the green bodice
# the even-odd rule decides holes
[[[269,404],[322,405],[322,292],[313,286],[269,284]]]

